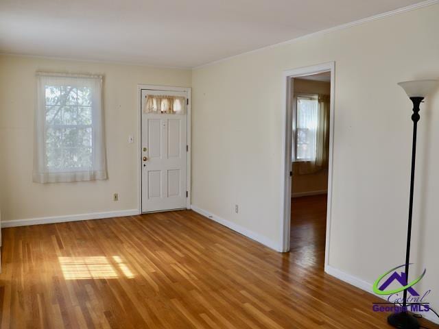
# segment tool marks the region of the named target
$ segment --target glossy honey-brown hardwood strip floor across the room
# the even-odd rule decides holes
[[[305,214],[289,254],[189,210],[5,228],[1,328],[390,328]]]

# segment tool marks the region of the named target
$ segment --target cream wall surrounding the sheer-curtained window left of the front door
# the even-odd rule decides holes
[[[32,182],[35,72],[101,73],[106,181]],[[191,86],[191,71],[0,56],[0,208],[3,221],[138,208],[137,84]],[[128,143],[128,135],[134,143]],[[119,201],[112,194],[119,193]]]

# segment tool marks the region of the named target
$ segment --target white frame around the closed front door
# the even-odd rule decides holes
[[[174,87],[174,86],[155,86],[152,84],[138,84],[137,85],[137,111],[139,116],[137,117],[137,193],[138,193],[138,208],[139,214],[142,213],[142,90],[163,90],[163,91],[185,91],[187,93],[187,198],[186,208],[191,208],[191,108],[192,108],[192,95],[191,88],[189,87]]]

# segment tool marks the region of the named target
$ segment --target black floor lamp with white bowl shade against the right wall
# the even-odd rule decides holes
[[[431,93],[436,87],[438,80],[415,80],[399,82],[407,96],[413,102],[413,144],[412,144],[412,172],[410,175],[410,201],[409,201],[409,223],[407,228],[407,247],[405,249],[405,278],[409,282],[409,263],[410,263],[410,241],[412,239],[412,212],[413,212],[413,188],[414,188],[414,167],[416,160],[416,130],[419,116],[419,106],[423,99]],[[388,317],[388,323],[395,328],[400,329],[418,329],[419,323],[416,317],[413,317],[407,312],[407,289],[404,290],[403,295],[403,312],[393,313]]]

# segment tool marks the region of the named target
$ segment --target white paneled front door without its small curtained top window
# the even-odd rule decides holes
[[[148,94],[187,99],[186,92],[142,90],[142,212],[186,208],[187,111],[185,114],[144,113]]]

